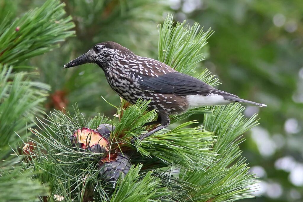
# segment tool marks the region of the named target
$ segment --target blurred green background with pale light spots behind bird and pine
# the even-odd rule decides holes
[[[35,57],[39,81],[52,86],[45,103],[72,109],[78,103],[87,116],[110,118],[119,97],[96,65],[63,69],[95,43],[115,41],[138,55],[157,58],[158,32],[168,12],[175,19],[199,22],[215,33],[209,39],[203,66],[218,75],[218,88],[241,98],[267,104],[248,106],[245,116],[259,114],[260,124],[241,144],[251,172],[259,178],[257,199],[303,201],[303,1],[301,0],[62,0],[72,15],[77,36],[61,48]],[[43,0],[0,0],[2,11],[22,15]],[[0,19],[6,15],[0,14]],[[202,71],[202,70],[201,70]],[[200,119],[199,116],[191,119]]]

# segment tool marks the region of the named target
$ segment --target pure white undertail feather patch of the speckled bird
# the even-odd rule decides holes
[[[231,103],[229,100],[225,100],[222,95],[208,94],[208,95],[187,95],[186,101],[191,107],[209,106],[209,105],[222,105]]]

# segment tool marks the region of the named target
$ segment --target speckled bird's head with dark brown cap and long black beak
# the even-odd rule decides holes
[[[117,54],[124,55],[124,53],[133,54],[130,50],[118,43],[112,41],[102,42],[94,45],[85,54],[65,64],[64,68],[75,67],[86,63],[95,63],[103,68],[108,65],[108,63],[116,60]]]

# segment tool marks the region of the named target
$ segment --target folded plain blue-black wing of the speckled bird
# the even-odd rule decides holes
[[[139,84],[143,90],[158,93],[174,93],[180,95],[208,95],[210,93],[215,93],[222,96],[238,98],[236,95],[215,89],[195,77],[179,72],[168,72],[156,77],[142,75],[142,79],[139,80]]]

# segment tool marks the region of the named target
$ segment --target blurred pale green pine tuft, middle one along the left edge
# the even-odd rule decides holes
[[[48,85],[30,81],[31,74],[13,73],[13,68],[0,65],[0,159],[20,141],[15,132],[23,134],[33,125],[35,116],[41,116]],[[24,138],[24,135],[22,135]]]

